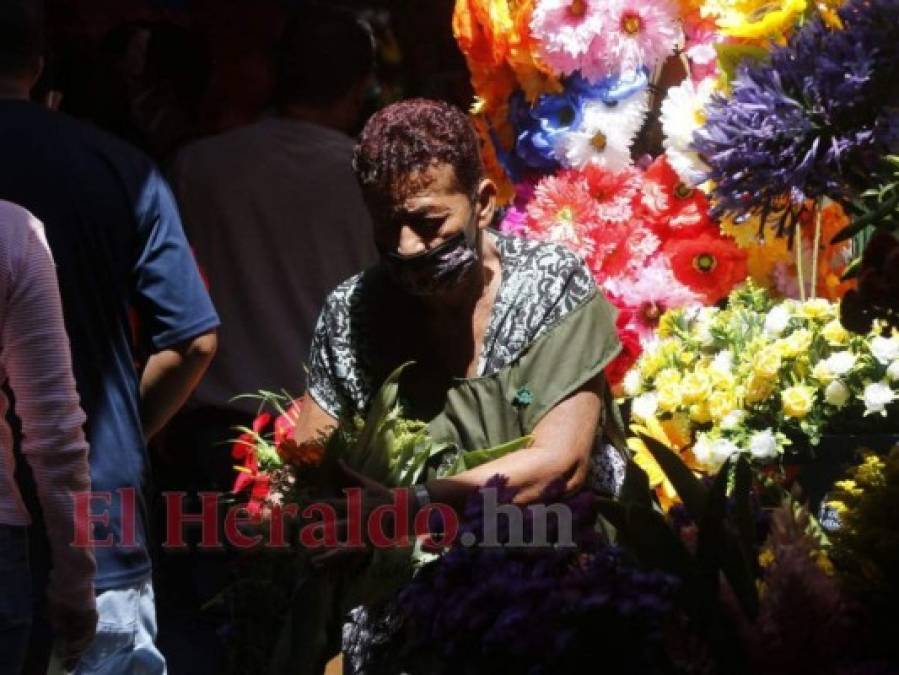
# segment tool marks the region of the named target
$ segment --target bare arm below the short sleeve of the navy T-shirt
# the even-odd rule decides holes
[[[140,381],[144,434],[152,438],[187,401],[215,356],[216,333],[156,352],[147,360]]]

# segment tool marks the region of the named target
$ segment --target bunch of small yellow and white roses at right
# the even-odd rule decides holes
[[[775,303],[751,283],[727,309],[670,311],[625,376],[631,415],[707,472],[884,418],[899,399],[899,334],[853,335],[838,317],[827,300]]]

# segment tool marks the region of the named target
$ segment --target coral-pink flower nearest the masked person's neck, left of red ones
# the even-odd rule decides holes
[[[593,254],[590,235],[598,225],[587,181],[570,172],[541,180],[527,205],[527,236],[566,246],[584,259]]]

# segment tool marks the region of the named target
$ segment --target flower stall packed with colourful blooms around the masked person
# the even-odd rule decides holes
[[[614,495],[543,495],[574,514],[573,547],[454,543],[360,573],[386,605],[350,612],[354,672],[896,672],[897,17],[897,0],[457,0],[497,226],[570,249],[617,309],[605,376],[629,456]],[[324,444],[392,487],[440,452],[395,384]],[[263,511],[328,464],[281,465],[303,451],[296,409],[266,398],[283,415],[235,446],[236,492]],[[461,531],[484,517],[475,495]]]

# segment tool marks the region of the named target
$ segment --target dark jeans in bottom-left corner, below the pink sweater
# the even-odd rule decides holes
[[[0,525],[0,675],[19,675],[31,632],[28,529]]]

